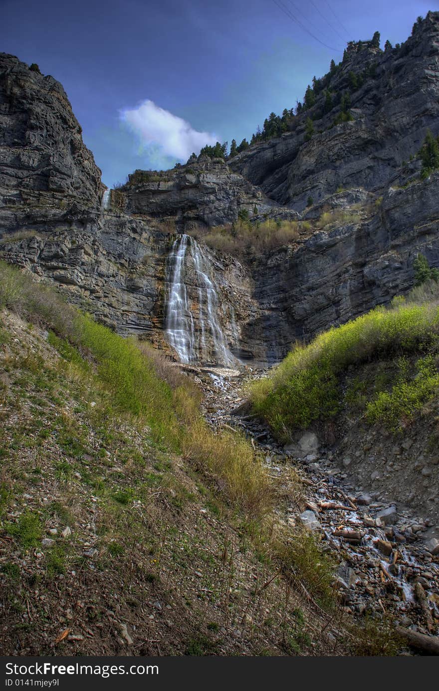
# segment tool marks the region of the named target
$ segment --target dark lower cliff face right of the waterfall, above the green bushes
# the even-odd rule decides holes
[[[275,362],[295,340],[308,340],[410,290],[418,252],[439,266],[438,199],[436,173],[426,182],[390,187],[352,220],[336,220],[335,211],[328,227],[296,247],[272,252],[253,274],[261,321],[247,337],[263,334],[265,357]]]

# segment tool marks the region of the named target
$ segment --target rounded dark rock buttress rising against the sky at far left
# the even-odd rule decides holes
[[[104,186],[64,89],[0,53],[0,234],[99,207]]]

